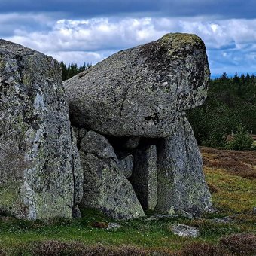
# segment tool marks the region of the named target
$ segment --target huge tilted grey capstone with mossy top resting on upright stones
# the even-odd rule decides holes
[[[112,136],[172,136],[206,99],[209,66],[196,35],[168,34],[123,50],[64,82],[72,123]]]

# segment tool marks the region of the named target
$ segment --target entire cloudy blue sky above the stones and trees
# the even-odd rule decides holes
[[[212,75],[256,74],[255,0],[0,0],[0,38],[95,64],[168,32],[199,35]]]

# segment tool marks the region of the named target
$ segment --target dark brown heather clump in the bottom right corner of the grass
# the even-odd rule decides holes
[[[256,254],[256,235],[252,233],[237,233],[221,239],[221,242],[236,254]]]

